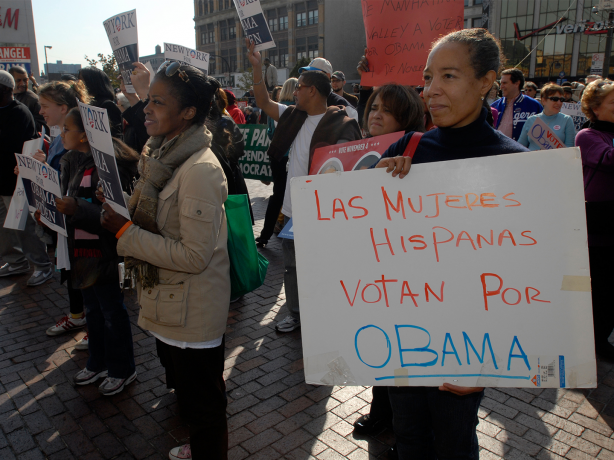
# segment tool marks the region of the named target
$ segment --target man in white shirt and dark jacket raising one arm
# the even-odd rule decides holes
[[[269,147],[271,161],[281,160],[289,151],[288,179],[281,212],[284,224],[292,217],[290,180],[309,175],[313,153],[317,147],[341,144],[362,138],[360,127],[346,110],[337,105],[327,107],[326,99],[332,93],[330,78],[322,71],[305,70],[300,74],[294,90],[296,105],[278,104],[269,98],[262,78],[262,61],[255,44],[245,39],[247,58],[253,66],[256,104],[264,113],[277,121],[273,141]],[[259,80],[259,81],[258,81]],[[290,314],[277,323],[279,332],[291,332],[301,325],[298,304],[298,281],[294,240],[284,239],[284,286],[286,304]]]

